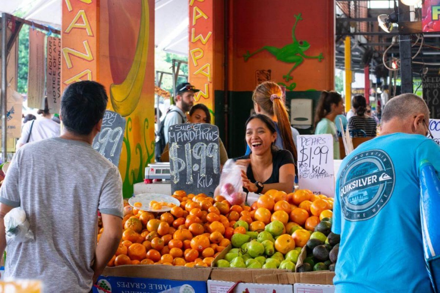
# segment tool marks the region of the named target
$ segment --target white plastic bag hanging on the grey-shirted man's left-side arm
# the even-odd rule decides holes
[[[6,244],[12,240],[17,242],[34,240],[34,233],[29,229],[29,221],[26,219],[26,213],[21,207],[11,209],[4,216],[4,227],[6,231]]]

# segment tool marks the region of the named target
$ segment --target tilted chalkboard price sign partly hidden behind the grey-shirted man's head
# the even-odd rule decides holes
[[[124,139],[125,119],[116,112],[106,110],[101,132],[93,140],[93,148],[99,151],[116,167],[119,165],[122,141]]]

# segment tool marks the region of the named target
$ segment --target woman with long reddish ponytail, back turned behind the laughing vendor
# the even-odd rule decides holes
[[[252,101],[254,101],[254,110],[257,114],[263,114],[274,122],[278,134],[275,146],[290,151],[296,165],[298,157],[296,137],[299,135],[299,132],[290,126],[286,106],[281,100],[282,95],[283,91],[278,84],[264,82],[255,88],[252,94]],[[250,148],[247,146],[246,155],[249,153]]]

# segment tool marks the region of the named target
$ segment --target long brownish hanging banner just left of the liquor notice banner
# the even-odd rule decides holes
[[[44,109],[44,37],[40,31],[29,30],[27,106],[35,109]]]

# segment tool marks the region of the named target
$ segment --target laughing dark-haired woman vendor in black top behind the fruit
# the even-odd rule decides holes
[[[295,165],[290,151],[274,146],[277,132],[273,121],[258,114],[246,121],[246,143],[249,155],[236,162],[247,168],[242,172],[243,187],[250,192],[264,193],[277,189],[290,193],[295,180]]]

